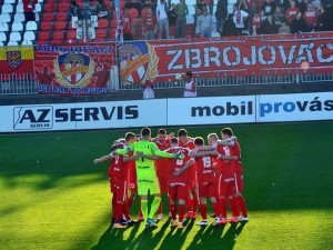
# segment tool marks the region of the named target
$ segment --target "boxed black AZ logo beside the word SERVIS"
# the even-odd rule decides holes
[[[13,129],[52,129],[52,116],[53,108],[51,106],[16,107],[13,109]]]

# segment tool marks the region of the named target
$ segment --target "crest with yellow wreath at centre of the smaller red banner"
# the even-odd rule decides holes
[[[56,81],[63,87],[83,88],[93,74],[93,61],[88,54],[64,53],[54,60]]]

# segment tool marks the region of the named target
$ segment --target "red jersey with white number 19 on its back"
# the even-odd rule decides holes
[[[213,157],[196,157],[195,163],[198,168],[198,182],[214,182],[215,176],[213,172]]]

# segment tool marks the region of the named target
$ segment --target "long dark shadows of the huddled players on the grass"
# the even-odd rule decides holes
[[[221,227],[202,227],[196,231],[194,238],[190,241],[186,237],[192,231],[194,220],[185,220],[185,228],[170,228],[171,219],[163,223],[160,228],[139,229],[143,224],[137,224],[131,229],[113,229],[110,226],[101,236],[97,246],[91,250],[99,249],[233,249],[235,239],[241,234],[245,223],[232,223],[228,231],[223,234],[226,226]],[[169,229],[170,228],[170,229]],[[127,230],[131,230],[125,236]],[[159,230],[154,233],[155,230]],[[168,231],[168,233],[165,233]],[[189,242],[190,241],[190,242]],[[188,247],[186,247],[188,246]]]

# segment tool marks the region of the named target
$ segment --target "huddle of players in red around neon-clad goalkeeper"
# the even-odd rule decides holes
[[[149,128],[143,128],[140,136],[128,132],[124,139],[114,141],[110,154],[94,160],[95,164],[111,160],[108,174],[113,193],[113,228],[137,222],[130,216],[137,193],[140,196],[138,220],[144,220],[145,228],[158,227],[153,219],[157,212],[158,220],[163,219],[162,193],[168,193],[171,224],[179,229],[184,228],[184,218],[196,218],[199,202],[202,220],[196,224],[209,224],[206,198],[214,211],[212,226],[248,221],[245,200],[241,194],[241,148],[232,130],[222,129],[222,140],[216,133],[210,133],[209,146],[204,146],[201,137],[190,138],[185,129],[180,129],[176,138],[173,136],[168,136],[164,129],[159,130],[157,138],[151,138]],[[154,196],[150,212],[149,192]],[[232,212],[230,218],[226,216],[228,202]]]

